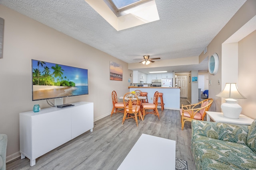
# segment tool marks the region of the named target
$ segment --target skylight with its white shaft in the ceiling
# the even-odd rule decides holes
[[[159,20],[155,0],[85,1],[117,31]],[[114,2],[118,3],[118,7]]]

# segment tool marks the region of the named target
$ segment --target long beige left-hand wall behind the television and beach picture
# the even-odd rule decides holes
[[[20,156],[19,113],[32,110],[34,104],[50,107],[46,100],[32,102],[31,59],[87,68],[89,94],[64,98],[64,104],[94,102],[94,120],[110,114],[112,90],[120,96],[128,92],[132,71],[128,70],[127,63],[2,5],[0,17],[4,18],[0,133],[8,135],[7,161]],[[110,61],[122,64],[123,81],[110,80]]]

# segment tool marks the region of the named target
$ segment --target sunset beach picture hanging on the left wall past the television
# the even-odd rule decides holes
[[[123,80],[123,66],[121,64],[110,61],[110,80]]]

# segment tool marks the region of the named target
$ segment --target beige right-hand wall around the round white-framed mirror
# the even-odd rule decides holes
[[[210,111],[221,111],[220,106],[222,104],[222,100],[219,97],[216,97],[218,93],[222,90],[222,85],[218,84],[218,80],[225,81],[222,78],[222,43],[226,41],[230,36],[232,36],[236,31],[238,31],[241,27],[243,27],[248,21],[250,21],[254,16],[256,16],[256,1],[255,0],[247,0],[244,5],[236,12],[236,14],[228,21],[228,23],[220,30],[220,32],[214,37],[211,43],[207,46],[207,53],[202,53],[199,56],[199,62],[203,61],[206,57],[210,57],[212,54],[217,53],[219,57],[219,69],[216,75],[209,74],[209,80],[211,80],[212,84],[209,85],[209,98],[213,98],[214,102],[210,107]],[[254,44],[255,48],[255,44]],[[252,49],[250,49],[252,50]],[[238,52],[239,53],[239,52]],[[254,64],[255,65],[255,64]],[[238,66],[240,67],[240,66]],[[248,68],[248,67],[247,67]],[[254,68],[250,67],[251,69]],[[238,75],[240,75],[240,70],[238,70]],[[227,75],[228,76],[228,75]],[[238,81],[239,86],[240,80]],[[255,94],[255,93],[254,93]],[[253,116],[250,116],[253,117]]]

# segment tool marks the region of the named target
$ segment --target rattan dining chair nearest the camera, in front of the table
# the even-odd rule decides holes
[[[126,107],[124,108],[124,117],[123,117],[122,125],[124,124],[125,119],[133,118],[135,119],[136,125],[138,127],[137,117],[139,116],[139,119],[140,119],[140,115],[141,115],[138,96],[131,92],[126,93],[124,95],[124,106]]]

